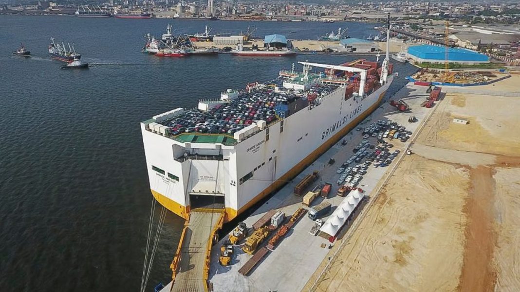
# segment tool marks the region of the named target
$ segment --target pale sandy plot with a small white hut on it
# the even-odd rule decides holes
[[[489,154],[520,154],[520,99],[448,93],[437,106],[419,143]],[[470,123],[454,123],[455,117]]]

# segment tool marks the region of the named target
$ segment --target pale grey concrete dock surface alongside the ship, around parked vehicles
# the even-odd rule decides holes
[[[415,132],[426,115],[433,110],[432,108],[420,106],[421,102],[425,100],[426,95],[426,87],[408,84],[396,93],[392,99],[402,98],[405,100],[410,105],[411,109],[409,112],[397,112],[393,107],[389,106],[388,103],[385,102],[382,106],[376,109],[372,115],[362,121],[358,127],[364,127],[366,124],[382,119],[396,121],[407,127],[407,130]],[[408,118],[411,115],[415,116],[419,122],[408,123]],[[352,149],[362,140],[361,133],[361,131],[351,131],[344,137],[345,140],[348,141],[346,146],[342,146],[340,143],[336,144],[298,175],[291,183],[288,183],[278,191],[274,197],[259,207],[252,216],[244,220],[248,227],[261,218],[263,214],[273,208],[277,208],[286,215],[291,215],[298,207],[301,207],[302,197],[295,196],[293,194],[293,188],[305,175],[312,173],[315,170],[320,171],[320,179],[315,183],[315,185],[324,182],[329,182],[333,185],[331,194],[329,194],[329,198],[326,200],[333,205],[334,210],[335,206],[344,199],[343,197],[336,196],[336,180],[339,178],[339,174],[336,174],[336,170],[353,154]],[[369,141],[370,143],[375,144],[375,138],[371,137],[369,138]],[[400,155],[404,155],[404,150],[409,146],[409,142],[401,143],[400,141],[394,140],[392,143],[395,145],[393,149],[401,150]],[[334,158],[336,163],[328,165],[330,158]],[[372,191],[378,187],[381,178],[391,167],[392,165],[386,168],[373,168],[370,166],[365,178],[361,180],[358,187],[365,190],[366,194],[373,196]],[[320,203],[321,200],[323,199],[316,199],[312,205]],[[369,198],[368,203],[357,210],[355,217],[357,217],[359,213],[363,213],[364,209],[369,208],[371,201],[372,200]],[[327,219],[327,217],[323,219]],[[354,224],[355,226],[356,220],[357,219],[350,221],[348,224]],[[261,262],[259,262],[257,267],[254,268],[247,277],[241,275],[238,270],[252,256],[242,251],[242,245],[235,248],[235,254],[233,255],[231,264],[228,267],[220,266],[218,263],[219,248],[222,242],[215,245],[211,253],[211,266],[208,279],[213,286],[213,291],[265,292],[269,289],[274,291],[302,290],[311,275],[315,273],[321,262],[326,259],[329,254],[328,247],[330,242],[322,237],[309,234],[308,231],[313,225],[314,221],[307,216],[302,218],[294,228],[288,232],[276,249],[271,251]],[[343,228],[342,234],[339,235],[339,238],[341,238],[345,232],[348,232],[349,227],[350,226]],[[225,237],[223,240],[226,240],[227,238],[228,237]],[[263,245],[266,243],[267,242],[264,242]],[[332,245],[334,244],[336,244],[336,242]]]

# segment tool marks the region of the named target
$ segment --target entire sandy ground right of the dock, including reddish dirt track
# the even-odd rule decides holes
[[[474,94],[437,102],[315,291],[520,291],[519,108]]]

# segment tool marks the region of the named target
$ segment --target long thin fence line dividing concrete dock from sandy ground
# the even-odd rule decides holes
[[[404,88],[406,88],[406,86]],[[399,91],[397,93],[399,93]],[[435,112],[435,110],[437,109],[437,107],[438,107],[438,104],[437,104],[437,106],[433,107],[433,110],[431,110],[430,113],[428,113],[428,115],[426,116],[426,118],[424,118],[422,124],[415,131],[415,133],[413,135],[413,138],[410,140],[410,142],[405,144],[406,148],[410,148],[413,145],[413,143],[415,142],[415,140],[417,140],[417,137],[419,137],[419,134],[424,129],[424,127],[426,125],[426,122],[428,120],[430,120],[430,118],[432,117],[432,115]],[[330,266],[332,265],[332,262],[335,261],[335,259],[337,257],[337,254],[339,254],[343,250],[343,248],[347,244],[348,240],[352,237],[352,233],[355,230],[357,230],[357,228],[361,224],[361,221],[363,220],[363,218],[365,217],[366,213],[368,212],[368,211],[365,212],[365,210],[369,210],[369,208],[372,205],[372,203],[375,202],[375,200],[379,197],[379,194],[381,193],[381,190],[383,189],[384,186],[386,186],[386,184],[388,183],[388,180],[393,176],[394,171],[397,169],[397,166],[399,166],[399,164],[401,163],[402,159],[405,158],[405,156],[406,156],[406,150],[402,151],[401,155],[398,157],[397,161],[395,163],[393,163],[392,169],[386,175],[386,177],[383,180],[383,182],[381,184],[379,184],[379,186],[376,187],[376,189],[372,190],[372,192],[374,192],[374,197],[370,198],[370,201],[367,204],[367,207],[363,208],[361,210],[357,220],[353,221],[352,225],[345,232],[345,234],[343,236],[343,239],[341,240],[340,246],[334,251],[334,254],[332,254],[332,256],[329,257],[329,261],[327,262],[327,265],[323,268],[323,270],[320,272],[320,274],[316,277],[316,280],[314,281],[313,285],[309,288],[309,292],[314,292],[316,290],[318,284],[320,283],[320,279],[323,276],[323,274],[326,273],[330,269]]]

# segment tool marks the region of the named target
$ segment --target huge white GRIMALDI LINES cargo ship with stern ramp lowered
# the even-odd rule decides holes
[[[387,42],[382,65],[298,62],[302,71],[293,64],[273,80],[141,122],[151,193],[187,220],[163,291],[207,291],[222,224],[290,182],[380,106],[394,79],[388,50]]]

